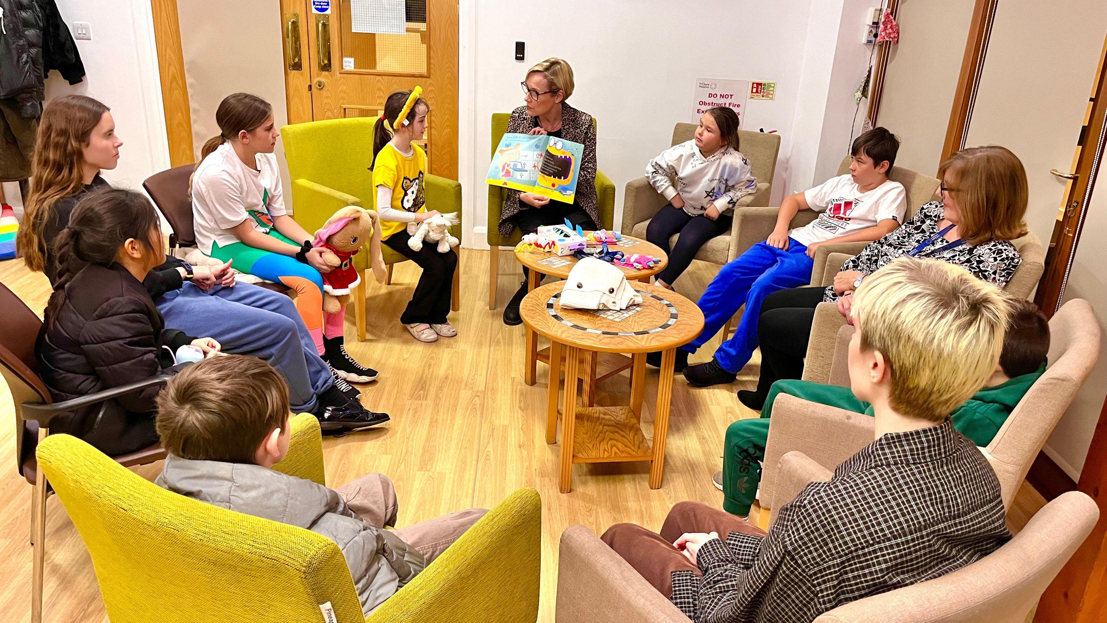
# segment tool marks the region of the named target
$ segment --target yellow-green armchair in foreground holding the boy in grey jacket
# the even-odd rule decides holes
[[[319,422],[292,419],[284,473],[323,482]],[[52,435],[39,464],[92,555],[114,623],[362,622],[345,560],[329,539],[178,496],[84,441]],[[541,502],[511,493],[368,621],[532,623]]]

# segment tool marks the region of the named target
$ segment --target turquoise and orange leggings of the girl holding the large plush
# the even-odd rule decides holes
[[[270,229],[269,235],[282,243],[300,246],[288,237],[281,235],[276,229]],[[234,259],[234,267],[242,273],[257,275],[262,279],[284,284],[296,290],[296,310],[303,318],[303,324],[308,327],[312,340],[315,343],[315,350],[322,355],[323,348],[323,277],[311,266],[297,262],[294,257],[262,251],[247,245],[246,243],[234,243],[226,246],[211,244],[211,257],[226,262]],[[342,335],[342,318],[345,309],[340,309],[337,314],[327,314],[327,337],[339,337]],[[335,335],[331,335],[331,334]]]

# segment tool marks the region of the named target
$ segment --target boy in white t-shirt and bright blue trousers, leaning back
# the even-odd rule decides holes
[[[899,140],[883,127],[873,127],[853,141],[849,174],[828,180],[780,204],[776,228],[763,243],[723,266],[697,305],[703,310],[703,333],[677,349],[677,370],[745,304],[734,337],[724,341],[706,364],[687,366],[684,378],[693,387],[733,382],[758,346],[757,315],[774,292],[811,280],[815,249],[826,243],[870,242],[899,227],[907,212],[907,192],[888,180]],[[820,212],[804,227],[789,231],[800,210]],[[653,358],[660,359],[656,355]]]

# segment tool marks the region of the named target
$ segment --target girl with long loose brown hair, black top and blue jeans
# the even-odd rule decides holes
[[[44,270],[58,288],[63,286],[65,261],[60,234],[75,206],[95,192],[111,190],[100,171],[115,168],[121,145],[107,106],[92,98],[59,98],[42,113],[27,223],[18,242],[28,266]],[[149,269],[143,285],[165,326],[210,335],[229,351],[266,359],[288,380],[289,400],[297,411],[351,426],[379,416],[361,406],[356,389],[332,377],[289,297],[236,285],[229,262],[213,269],[158,255],[162,262]]]

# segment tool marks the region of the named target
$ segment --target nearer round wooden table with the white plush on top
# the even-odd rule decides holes
[[[642,304],[622,312],[562,309],[558,300],[563,288],[560,283],[536,288],[519,306],[527,328],[550,339],[547,443],[557,441],[558,386],[560,369],[565,367],[558,479],[562,493],[572,489],[573,463],[604,461],[651,461],[650,489],[661,488],[676,347],[700,335],[703,313],[675,292],[635,282],[630,285],[642,294]],[[645,396],[645,354],[654,350],[661,350],[662,356],[651,448],[640,421]],[[630,405],[577,407],[581,351],[632,354]]]

